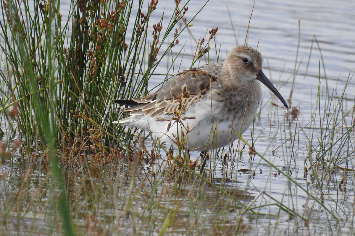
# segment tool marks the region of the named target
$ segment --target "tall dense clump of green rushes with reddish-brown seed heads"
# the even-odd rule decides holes
[[[62,19],[59,1],[2,3],[0,109],[8,122],[17,121],[13,131],[25,146],[45,146],[47,129],[56,146],[71,146],[90,129],[105,133],[104,145],[120,142],[112,100],[146,94],[158,63],[189,25],[180,1],[164,28],[163,17],[153,24],[157,4],[73,1]],[[17,113],[10,117],[5,111],[12,106]]]

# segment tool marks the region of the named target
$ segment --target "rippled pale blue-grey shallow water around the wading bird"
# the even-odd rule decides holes
[[[218,27],[215,41],[217,47],[220,46],[220,61],[226,56],[226,53],[236,45],[243,45],[249,17],[252,11],[254,1],[209,1],[206,7],[193,20],[190,30],[193,36],[198,40],[204,37],[208,29]],[[201,6],[201,1],[191,0],[188,4],[189,10],[185,17],[189,20],[195,15]],[[227,7],[228,6],[228,7]],[[157,9],[152,15],[151,24],[160,20],[160,16],[165,11],[166,16],[173,12],[173,1],[159,1]],[[228,13],[229,9],[229,13]],[[331,120],[327,122],[328,116],[323,113],[334,114],[334,105],[324,112],[324,107],[328,103],[335,102],[336,99],[330,99],[333,94],[340,96],[342,94],[346,81],[355,70],[355,2],[351,1],[256,1],[252,13],[250,27],[247,37],[247,45],[257,47],[264,57],[263,70],[271,79],[283,97],[288,100],[290,91],[294,86],[294,92],[291,100],[291,106],[300,110],[299,115],[293,121],[288,120],[287,111],[282,108],[276,108],[269,102],[270,93],[265,91],[263,107],[261,113],[256,117],[254,123],[253,134],[257,137],[255,140],[255,149],[266,160],[270,161],[275,167],[288,171],[299,186],[291,183],[288,178],[279,174],[278,171],[271,167],[269,163],[262,160],[259,156],[250,159],[247,155],[247,149],[244,150],[242,157],[236,155],[235,162],[232,162],[233,155],[229,156],[229,166],[224,166],[221,160],[211,160],[212,167],[215,168],[215,179],[222,178],[227,173],[229,179],[233,180],[232,184],[227,184],[230,188],[247,189],[249,195],[257,197],[259,194],[266,193],[275,200],[282,202],[286,206],[293,208],[299,214],[309,214],[308,226],[300,226],[295,223],[295,219],[290,219],[289,215],[280,212],[279,207],[270,205],[268,207],[258,208],[260,215],[265,217],[249,216],[249,224],[253,230],[250,234],[288,234],[299,235],[331,235],[331,234],[353,234],[352,228],[354,218],[354,172],[344,173],[342,169],[335,169],[332,175],[329,175],[329,183],[322,188],[316,188],[310,173],[305,175],[304,167],[307,169],[311,166],[310,160],[315,161],[316,154],[311,152],[311,158],[308,159],[309,149],[311,146],[317,150],[318,139],[324,131],[320,127],[324,127],[324,123],[333,126]],[[63,18],[65,12],[69,12],[69,4],[65,1],[61,5]],[[230,14],[230,18],[229,18]],[[233,24],[233,25],[232,25]],[[300,26],[300,27],[299,27]],[[164,23],[163,23],[164,27]],[[163,28],[164,29],[164,28]],[[234,36],[233,31],[235,31]],[[319,43],[319,47],[317,42]],[[176,60],[175,70],[169,73],[176,73],[179,69],[191,67],[192,54],[195,52],[196,43],[193,42],[190,35],[185,31],[180,35],[180,43],[174,47],[177,53],[181,47],[185,49],[182,60]],[[183,44],[185,46],[183,46]],[[299,47],[297,45],[299,43]],[[298,52],[297,52],[298,50]],[[215,62],[217,58],[214,45],[211,45],[211,54],[209,61]],[[155,73],[166,73],[167,67],[171,63],[171,58],[160,63]],[[203,59],[197,64],[207,63]],[[296,71],[295,71],[296,68]],[[325,68],[325,70],[323,69]],[[317,88],[319,78],[322,77],[320,86],[320,111],[315,113],[317,101]],[[152,76],[149,88],[153,89],[165,79],[165,76]],[[355,98],[355,80],[349,82],[344,93],[344,103],[342,109],[345,119],[341,121],[339,115],[335,126],[339,127],[342,132],[335,134],[334,137],[340,138],[349,127],[354,119],[352,109],[354,107]],[[280,101],[272,98],[272,102],[281,104]],[[322,119],[319,118],[321,114]],[[317,119],[313,120],[313,118]],[[6,127],[4,127],[5,130]],[[293,141],[284,141],[295,132],[299,132]],[[243,137],[251,143],[250,130],[246,131]],[[310,140],[313,134],[313,139]],[[348,146],[350,157],[354,158],[354,136],[349,138]],[[147,144],[148,145],[148,144]],[[329,144],[327,144],[329,146]],[[241,145],[242,146],[242,145]],[[340,153],[340,156],[346,154],[341,146],[335,145],[334,153]],[[148,146],[149,148],[149,146]],[[237,143],[235,143],[237,148]],[[240,146],[239,146],[240,148]],[[274,154],[272,151],[275,150]],[[224,155],[225,152],[223,152]],[[220,155],[220,156],[223,156]],[[192,152],[193,159],[198,157],[198,153]],[[218,159],[218,157],[215,157]],[[215,164],[214,164],[215,163]],[[156,163],[159,166],[160,162]],[[230,166],[234,165],[233,171]],[[329,163],[330,166],[335,165]],[[341,163],[340,167],[349,169],[354,168],[354,159]],[[2,171],[6,171],[4,165]],[[289,168],[289,169],[288,169]],[[323,167],[325,168],[325,167]],[[238,171],[247,169],[249,171]],[[319,167],[322,173],[322,167]],[[255,172],[255,174],[253,174]],[[304,177],[305,175],[305,177]],[[340,179],[346,176],[346,191],[338,189]],[[44,176],[42,176],[44,178]],[[333,222],[329,213],[324,211],[318,203],[310,200],[309,196],[300,190],[300,186],[307,189],[311,194],[318,196],[317,191],[325,192],[324,203],[333,211],[339,219],[339,223]],[[11,187],[1,186],[2,189]],[[13,191],[13,190],[12,190]],[[163,192],[162,189],[158,191]],[[207,195],[213,199],[213,192],[206,191]],[[174,198],[176,200],[176,197]],[[170,198],[164,198],[162,205],[169,205]],[[248,202],[248,201],[246,201]],[[255,206],[262,204],[271,204],[274,201],[267,195],[262,195],[255,200]],[[186,209],[190,209],[186,207]],[[112,213],[114,214],[114,213]],[[226,218],[234,219],[234,213],[226,215]],[[208,217],[208,215],[207,215]],[[248,216],[245,220],[247,221]],[[227,223],[225,223],[227,225]],[[255,228],[254,228],[255,226]],[[331,229],[334,231],[332,232]],[[176,229],[178,234],[179,229]],[[127,232],[131,234],[132,232]]]

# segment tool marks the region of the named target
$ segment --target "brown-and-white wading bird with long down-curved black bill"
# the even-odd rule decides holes
[[[159,142],[181,143],[205,152],[229,145],[253,121],[263,99],[261,83],[288,109],[288,104],[262,71],[260,52],[249,46],[233,48],[223,63],[180,71],[152,94],[115,99],[128,106],[129,116],[114,121],[146,129]],[[260,83],[260,82],[261,83]]]

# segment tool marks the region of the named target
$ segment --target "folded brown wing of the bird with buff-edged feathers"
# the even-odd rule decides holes
[[[130,115],[145,115],[156,119],[179,115],[197,99],[205,96],[211,89],[211,83],[217,84],[222,63],[203,65],[201,67],[182,70],[169,79],[155,93],[122,102],[133,107],[124,109]]]

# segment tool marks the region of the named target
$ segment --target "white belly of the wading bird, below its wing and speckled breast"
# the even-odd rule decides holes
[[[250,126],[257,106],[251,106],[244,115],[241,112],[230,112],[227,114],[222,110],[218,102],[213,101],[211,111],[211,101],[201,101],[191,107],[186,114],[180,117],[180,122],[170,121],[150,121],[150,129],[155,131],[160,142],[170,144],[184,140],[185,148],[204,151],[226,146],[236,140],[238,135],[246,131]],[[234,115],[233,115],[234,114]],[[185,117],[196,117],[195,119],[186,119]],[[243,120],[244,118],[244,120]],[[233,127],[233,128],[232,128]],[[159,132],[157,132],[159,130]],[[184,136],[184,139],[181,137]]]

